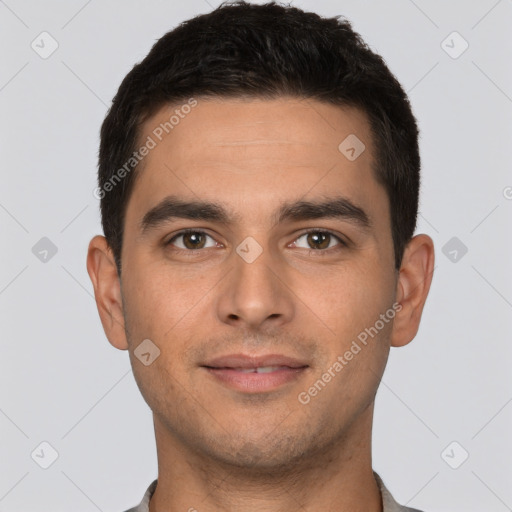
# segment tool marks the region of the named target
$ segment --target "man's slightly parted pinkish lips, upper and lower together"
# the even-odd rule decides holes
[[[296,381],[309,365],[282,355],[233,354],[202,367],[221,385],[245,393],[263,393]]]

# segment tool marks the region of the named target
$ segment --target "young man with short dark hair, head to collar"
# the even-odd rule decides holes
[[[417,139],[350,24],[293,7],[222,5],[125,77],[87,269],[153,411],[158,479],[132,511],[414,510],[371,432],[434,266]]]

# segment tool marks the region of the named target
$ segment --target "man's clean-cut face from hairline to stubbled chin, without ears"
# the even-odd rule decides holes
[[[126,211],[126,339],[109,336],[129,349],[156,428],[252,467],[368,434],[399,278],[366,117],[313,100],[198,98],[159,141],[176,108],[140,135],[156,146]],[[147,339],[160,355],[146,366]]]

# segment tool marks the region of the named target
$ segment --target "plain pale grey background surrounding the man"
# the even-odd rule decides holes
[[[155,40],[219,3],[0,1],[0,511],[121,511],[156,477],[150,410],[85,267],[101,232],[98,134]],[[512,1],[293,4],[351,20],[421,129],[418,232],[436,269],[420,332],[392,349],[378,392],[374,467],[427,512],[512,510]],[[31,47],[51,49],[43,31],[58,43],[46,59]],[[43,237],[57,248],[46,261]],[[43,441],[58,453],[47,469]]]

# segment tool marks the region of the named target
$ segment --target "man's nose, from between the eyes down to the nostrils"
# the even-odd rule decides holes
[[[261,237],[258,237],[261,241]],[[232,271],[218,302],[222,322],[259,328],[265,322],[284,323],[293,315],[290,291],[279,276],[280,262],[254,237],[245,238],[230,255]]]

